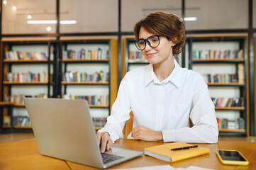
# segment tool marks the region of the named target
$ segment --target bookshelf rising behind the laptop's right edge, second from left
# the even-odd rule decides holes
[[[96,130],[106,123],[117,94],[117,41],[61,40],[60,98],[85,99]]]

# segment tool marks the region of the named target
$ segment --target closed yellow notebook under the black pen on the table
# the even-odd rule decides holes
[[[197,157],[202,154],[210,153],[210,149],[205,147],[194,147],[190,149],[182,149],[182,150],[171,150],[178,147],[191,147],[193,145],[189,145],[184,142],[174,142],[164,145],[157,145],[155,147],[147,147],[145,148],[145,154],[155,157],[157,159],[161,159],[165,162],[177,162],[183,159],[189,159],[191,157]]]

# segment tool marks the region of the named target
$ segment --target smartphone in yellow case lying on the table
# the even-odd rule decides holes
[[[222,164],[247,165],[249,162],[237,150],[217,149],[216,154]]]

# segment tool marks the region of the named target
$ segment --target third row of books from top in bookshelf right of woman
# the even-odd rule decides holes
[[[245,106],[245,100],[240,98],[211,98],[215,107],[243,107]]]

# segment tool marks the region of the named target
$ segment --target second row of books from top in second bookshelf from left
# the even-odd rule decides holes
[[[94,72],[94,74],[87,74],[86,72],[65,72],[62,80],[65,82],[107,82],[109,79],[109,73],[106,72]]]

